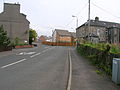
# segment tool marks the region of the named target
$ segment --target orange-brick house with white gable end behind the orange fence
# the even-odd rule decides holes
[[[71,42],[72,36],[68,30],[55,29],[52,34],[53,42]]]

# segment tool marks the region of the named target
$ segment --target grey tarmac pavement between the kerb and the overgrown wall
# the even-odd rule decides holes
[[[72,85],[71,90],[120,90],[107,76],[98,75],[97,70],[88,60],[78,55],[75,48],[71,49]]]

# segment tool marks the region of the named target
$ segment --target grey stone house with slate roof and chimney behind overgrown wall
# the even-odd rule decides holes
[[[76,29],[76,36],[77,40],[82,42],[84,40],[89,40],[94,43],[94,36],[95,36],[95,42],[107,42],[107,29],[108,27],[119,27],[119,23],[114,22],[107,22],[107,21],[100,21],[98,17],[95,18],[95,20],[90,20],[90,27],[88,28],[88,21],[85,22],[83,25],[78,27]],[[92,38],[92,39],[91,39]]]

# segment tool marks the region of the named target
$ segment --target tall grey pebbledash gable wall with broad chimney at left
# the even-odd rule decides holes
[[[0,13],[0,25],[3,25],[12,41],[19,38],[21,43],[28,43],[29,24],[26,15],[20,13],[20,4],[4,3],[4,10]]]

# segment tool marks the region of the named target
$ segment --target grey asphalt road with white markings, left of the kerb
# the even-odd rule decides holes
[[[0,56],[0,90],[65,90],[68,49],[42,45]]]

